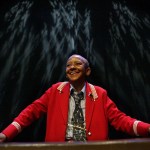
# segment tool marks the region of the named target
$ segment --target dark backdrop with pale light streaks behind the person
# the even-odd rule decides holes
[[[67,58],[91,65],[89,82],[118,108],[150,122],[150,6],[147,0],[0,2],[0,130],[58,81]],[[43,141],[45,116],[13,141]],[[131,138],[110,127],[110,139]]]

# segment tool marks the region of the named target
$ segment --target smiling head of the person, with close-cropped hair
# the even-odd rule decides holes
[[[72,55],[66,64],[66,76],[72,85],[83,85],[91,69],[88,61],[80,55]]]

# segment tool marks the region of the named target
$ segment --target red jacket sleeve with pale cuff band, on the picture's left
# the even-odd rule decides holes
[[[29,126],[33,121],[47,112],[50,94],[51,88],[39,99],[27,106],[14,121],[2,131],[2,133],[6,135],[8,141],[12,140],[23,128]]]

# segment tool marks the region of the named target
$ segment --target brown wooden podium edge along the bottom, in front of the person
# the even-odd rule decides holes
[[[150,150],[150,138],[75,143],[1,143],[0,150]]]

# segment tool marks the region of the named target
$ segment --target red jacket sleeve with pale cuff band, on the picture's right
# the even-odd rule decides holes
[[[108,120],[116,130],[121,130],[136,136],[146,137],[149,135],[150,124],[131,118],[121,112],[116,104],[107,96],[107,92],[105,92],[103,96],[106,100],[106,114]]]

